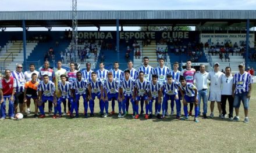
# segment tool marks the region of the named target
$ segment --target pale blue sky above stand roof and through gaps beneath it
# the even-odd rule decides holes
[[[77,10],[255,10],[255,7],[256,0],[77,0]],[[0,10],[72,10],[72,0],[1,0]],[[97,30],[96,27],[88,30],[90,28]]]

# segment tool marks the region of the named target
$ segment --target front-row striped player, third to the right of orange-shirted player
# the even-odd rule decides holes
[[[84,117],[88,118],[87,110],[88,110],[88,101],[86,99],[86,89],[87,89],[87,82],[82,79],[82,73],[80,71],[76,72],[76,80],[72,82],[72,95],[73,95],[73,103],[71,102],[70,108],[70,118],[74,118],[73,111],[76,111],[76,118],[79,117],[78,112],[78,104],[80,96],[83,97],[84,100]]]

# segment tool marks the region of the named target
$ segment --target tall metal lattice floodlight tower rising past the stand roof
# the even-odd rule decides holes
[[[78,33],[77,33],[77,0],[72,0],[72,49],[75,54],[75,61],[78,62]]]

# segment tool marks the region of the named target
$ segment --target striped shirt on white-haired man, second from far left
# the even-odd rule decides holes
[[[16,92],[24,92],[25,77],[23,72],[12,71],[12,77],[15,78]]]

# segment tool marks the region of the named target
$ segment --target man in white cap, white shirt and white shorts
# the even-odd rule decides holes
[[[214,104],[215,101],[218,104],[219,118],[222,117],[221,113],[221,78],[223,72],[219,71],[219,63],[214,64],[214,71],[209,72],[208,79],[210,81],[210,92],[209,92],[209,101],[211,101],[211,114],[210,117],[214,118]]]

